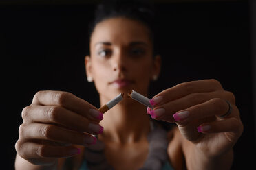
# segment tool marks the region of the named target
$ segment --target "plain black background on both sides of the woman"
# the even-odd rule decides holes
[[[162,73],[151,96],[215,78],[232,91],[244,123],[232,169],[254,167],[255,128],[248,1],[156,3]],[[0,6],[1,169],[13,169],[21,110],[38,90],[65,90],[98,106],[86,81],[87,24],[94,4]]]

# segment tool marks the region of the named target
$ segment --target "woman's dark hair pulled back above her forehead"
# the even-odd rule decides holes
[[[94,12],[94,20],[89,24],[89,40],[98,23],[114,17],[125,17],[140,21],[149,28],[149,38],[153,47],[155,42],[156,24],[155,12],[151,1],[143,0],[109,0],[100,3]],[[155,54],[155,48],[153,54]]]

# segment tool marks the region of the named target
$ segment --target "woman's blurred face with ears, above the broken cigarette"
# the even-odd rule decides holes
[[[160,72],[160,57],[153,58],[149,29],[136,20],[117,17],[98,23],[90,53],[85,57],[87,76],[106,99],[130,90],[147,95],[150,80]]]

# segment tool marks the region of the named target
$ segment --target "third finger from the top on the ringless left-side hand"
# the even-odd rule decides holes
[[[39,123],[25,125],[25,127],[21,126],[19,128],[19,136],[27,140],[40,139],[84,146],[92,145],[96,142],[96,138],[90,134],[67,130],[56,125]]]

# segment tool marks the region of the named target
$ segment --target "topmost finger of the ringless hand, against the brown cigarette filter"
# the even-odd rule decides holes
[[[91,109],[98,110],[92,104],[89,104],[87,101],[76,97],[72,93],[62,91],[39,91],[36,93],[36,95],[34,95],[32,104],[43,106],[63,106],[68,110],[81,114],[83,117],[87,117],[88,112],[96,114],[96,112],[92,111]]]

